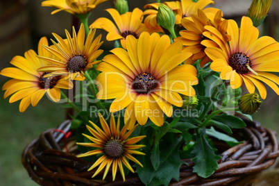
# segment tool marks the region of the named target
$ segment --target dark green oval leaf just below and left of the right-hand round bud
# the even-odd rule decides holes
[[[224,113],[223,115],[217,115],[212,117],[215,121],[219,121],[222,124],[225,124],[226,126],[229,126],[230,128],[244,128],[246,124],[242,119],[239,117],[235,117],[233,115],[228,115]]]

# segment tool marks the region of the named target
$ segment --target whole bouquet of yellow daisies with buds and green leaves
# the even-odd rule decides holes
[[[253,120],[267,97],[263,83],[279,94],[279,44],[257,29],[271,0],[253,0],[240,24],[206,8],[212,0],[157,0],[144,10],[117,0],[105,10],[112,19],[90,22],[104,1],[43,1],[57,8],[51,14],[80,22],[65,38],[42,37],[37,52],[12,58],[15,67],[0,73],[12,78],[4,98],[21,100],[20,112],[43,96],[74,110],[76,155],[92,162],[93,179],[111,171],[112,181],[134,173],[146,185],[168,185],[179,180],[182,159],[208,178],[221,158],[212,138],[241,144],[231,134],[244,117]],[[115,47],[103,51],[105,40]]]

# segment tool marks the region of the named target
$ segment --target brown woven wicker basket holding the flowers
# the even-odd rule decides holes
[[[96,169],[87,171],[92,162],[76,155],[77,149],[71,121],[63,122],[58,128],[45,131],[39,138],[26,146],[22,153],[22,164],[29,176],[40,185],[144,185],[137,174],[128,174],[124,182],[117,173],[112,182],[111,173],[102,180],[103,172],[91,178]],[[249,185],[264,169],[271,167],[279,156],[276,134],[253,121],[246,121],[246,128],[234,131],[237,140],[244,141],[232,148],[217,140],[216,148],[223,152],[219,169],[209,178],[201,178],[192,172],[194,162],[180,167],[180,180],[171,180],[169,185]],[[213,139],[212,139],[213,140]],[[66,147],[65,147],[66,144]],[[250,180],[249,180],[250,179]]]

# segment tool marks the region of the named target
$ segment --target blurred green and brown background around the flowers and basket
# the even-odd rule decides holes
[[[54,9],[41,7],[41,2],[36,0],[0,0],[0,70],[11,66],[9,62],[13,56],[23,56],[24,51],[28,49],[37,51],[37,41],[40,37],[46,35],[53,38],[52,32],[63,37],[64,29],[70,30],[71,15],[66,12],[50,15]],[[128,0],[128,2],[132,8],[138,6],[143,9],[144,4],[155,2],[155,0]],[[226,18],[235,19],[246,15],[246,10],[251,3],[250,0],[219,0],[215,2],[215,6],[225,12]],[[101,4],[92,14],[92,17],[100,14],[108,16],[102,12],[111,4],[111,1]],[[275,37],[276,40],[278,40],[278,11],[275,10],[278,5],[278,0],[277,2],[273,1],[274,11],[271,10],[266,24],[262,28],[263,33]],[[105,36],[103,36],[104,39]],[[105,42],[103,47],[110,48],[111,43]],[[8,79],[0,76],[0,87]],[[37,138],[44,130],[54,128],[64,121],[65,109],[44,97],[35,108],[30,106],[26,112],[20,113],[18,110],[19,101],[10,104],[8,99],[2,99],[3,93],[0,91],[0,185],[37,185],[31,178],[28,178],[28,174],[21,164],[22,151],[26,144]],[[253,117],[260,121],[263,126],[279,132],[278,100],[278,96],[273,91],[269,91],[261,109]]]

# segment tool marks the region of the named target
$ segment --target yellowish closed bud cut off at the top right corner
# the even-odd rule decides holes
[[[272,0],[253,0],[247,12],[247,16],[252,19],[253,26],[257,27],[262,24],[264,18],[267,17],[271,3]]]

